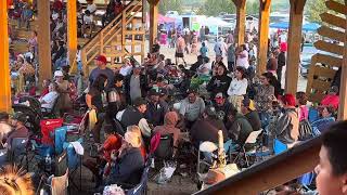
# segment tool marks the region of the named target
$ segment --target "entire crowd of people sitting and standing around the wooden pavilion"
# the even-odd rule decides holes
[[[22,5],[23,2],[14,2],[14,16],[21,10],[18,26],[23,20],[29,23],[28,8],[35,12],[35,5]],[[91,21],[97,11],[92,0],[87,2],[83,13],[78,9],[81,13],[81,36],[85,36],[86,29],[92,29]],[[110,1],[102,17],[103,25],[115,18],[123,9],[120,0]],[[226,153],[236,148],[236,145],[244,145],[248,135],[258,130],[266,132],[268,143],[275,139],[290,148],[323,133],[335,121],[339,104],[338,86],[332,86],[319,103],[309,103],[309,94],[305,92],[288,94],[282,90],[283,67],[286,66],[286,39],[283,34],[281,38],[270,41],[267,72],[259,76],[255,73],[256,32],[247,32],[242,46],[234,42],[232,31],[220,37],[213,49],[216,58],[210,62],[206,40],[208,27],[203,27],[198,34],[178,27],[168,31],[169,47],[176,48],[176,64],[160,53],[160,46],[155,40],[142,64],[127,56],[121,67],[111,69],[106,56],[98,55],[97,68],[88,76],[87,89],[76,88],[77,80],[68,74],[66,60],[66,8],[62,1],[54,0],[52,10],[54,76],[51,80],[44,80],[41,92],[37,92],[38,42],[34,30],[27,40],[28,52],[12,52],[10,56],[12,76],[20,77],[23,82],[13,86],[14,96],[26,91],[37,98],[42,112],[56,112],[59,117],[74,112],[76,107],[73,104],[77,100],[82,100],[89,110],[95,112],[97,122],[91,129],[91,138],[100,155],[97,159],[86,157],[83,160],[83,166],[94,174],[95,191],[115,183],[138,184],[152,155],[151,143],[162,135],[172,135],[175,150],[171,159],[176,159],[187,143],[195,151],[205,141],[217,144],[220,130]],[[188,64],[185,53],[197,54],[197,61]],[[80,63],[79,52],[76,60]],[[179,60],[183,60],[183,64]],[[24,113],[16,113],[12,118],[7,113],[0,113],[1,148],[11,147],[13,138],[30,138],[34,132],[26,127],[27,119]],[[332,128],[342,129],[345,126],[339,123]],[[321,164],[317,168],[318,181],[324,180],[322,178],[330,174],[329,171],[333,171],[334,180],[346,172],[344,168],[336,171],[335,167],[332,170],[330,167],[345,160],[335,158],[339,155],[335,154],[335,150],[342,145],[336,133],[343,135],[342,130],[336,130],[324,136]],[[270,144],[265,146],[273,150]],[[327,173],[324,172],[326,169]]]

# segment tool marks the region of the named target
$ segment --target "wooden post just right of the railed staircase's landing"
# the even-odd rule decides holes
[[[158,32],[158,2],[159,0],[149,0],[150,3],[150,51]]]

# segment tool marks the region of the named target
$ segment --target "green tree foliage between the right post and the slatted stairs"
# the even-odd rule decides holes
[[[336,1],[344,3],[344,0]],[[320,14],[324,12],[330,12],[325,6],[325,0],[308,0],[306,2],[305,9],[308,15],[308,20],[313,23],[322,23]]]

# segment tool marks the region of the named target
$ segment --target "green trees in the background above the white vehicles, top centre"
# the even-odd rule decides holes
[[[218,16],[221,12],[235,13],[235,10],[236,8],[232,0],[205,0],[198,10],[198,14]]]

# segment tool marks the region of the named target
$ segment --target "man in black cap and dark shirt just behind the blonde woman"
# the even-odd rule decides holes
[[[144,118],[146,110],[146,101],[138,98],[133,101],[133,106],[126,108],[121,115],[120,123],[126,128],[129,126],[137,126],[141,118]]]

